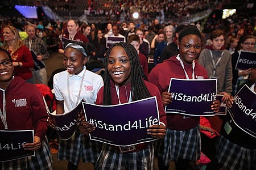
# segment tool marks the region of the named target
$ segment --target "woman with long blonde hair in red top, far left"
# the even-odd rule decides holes
[[[2,48],[11,54],[14,75],[32,83],[32,71],[30,69],[34,67],[34,61],[30,50],[26,45],[23,45],[18,30],[11,25],[6,25],[3,27],[2,34]]]

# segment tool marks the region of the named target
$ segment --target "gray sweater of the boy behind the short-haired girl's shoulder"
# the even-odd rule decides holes
[[[221,53],[222,54],[221,57]],[[212,56],[217,63],[218,59],[221,57],[220,62],[218,62],[216,66],[216,74],[213,75],[213,61],[210,56],[210,49],[203,49],[200,53],[198,62],[207,69],[208,75],[215,76],[218,78],[217,80],[217,94],[220,92],[226,92],[227,94],[231,94],[232,92],[232,63],[231,63],[231,55],[228,50],[212,50]]]

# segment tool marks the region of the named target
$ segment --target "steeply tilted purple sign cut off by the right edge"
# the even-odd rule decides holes
[[[228,109],[234,123],[256,138],[256,94],[245,85],[234,96],[234,104]]]

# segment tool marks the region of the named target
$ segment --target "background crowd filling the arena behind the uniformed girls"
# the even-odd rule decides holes
[[[135,47],[144,72],[143,76],[147,77],[155,66],[179,53],[179,44],[177,43],[179,41],[179,33],[186,25],[184,23],[166,23],[163,22],[164,18],[189,17],[191,14],[207,10],[208,5],[214,3],[215,1],[210,3],[209,1],[174,0],[138,2],[126,0],[108,3],[90,1],[88,6],[81,8],[84,14],[88,16],[105,16],[108,23],[102,23],[100,20],[96,23],[88,23],[82,20],[65,20],[60,22],[59,20],[48,18],[40,20],[27,19],[22,16],[3,15],[0,16],[1,46],[11,54],[12,58],[14,58],[13,56],[23,54],[22,60],[13,61],[14,73],[18,71],[16,75],[29,83],[45,84],[52,88],[53,77],[46,78],[45,68],[44,75],[39,75],[39,78],[37,78],[40,79],[40,76],[44,76],[43,81],[39,82],[34,77],[36,70],[33,70],[35,67],[31,64],[32,55],[29,52],[31,48],[36,49],[35,53],[38,60],[43,61],[50,57],[49,54],[64,53],[64,44],[61,43],[61,37],[66,37],[70,40],[82,40],[89,44],[86,46],[86,50],[88,50],[86,51],[88,53],[88,56],[86,56],[88,57],[86,69],[100,74],[104,79],[104,68],[106,68],[104,58],[108,50],[106,47],[106,37],[123,37],[125,42],[129,42],[129,44]],[[65,3],[57,5],[57,2],[49,3],[49,7],[56,11],[81,10],[75,6],[66,6]],[[135,11],[140,12],[142,15],[141,19],[131,19],[131,15]],[[225,79],[223,79],[223,84],[225,85],[218,84],[218,88],[220,88],[218,89],[218,94],[223,94],[225,100],[228,100],[231,95],[236,93],[239,85],[247,81],[248,75],[251,73],[251,70],[237,71],[234,67],[236,66],[236,58],[240,50],[256,52],[256,15],[241,11],[226,19],[217,19],[213,15],[189,24],[195,25],[200,31],[201,54],[199,55],[199,63],[207,69],[208,73],[212,70],[209,71],[209,64],[202,61],[203,57],[209,57],[209,54],[212,53],[213,57],[218,56],[217,50],[226,49],[224,55],[227,65],[225,65],[225,68],[222,68],[223,70],[220,71],[217,77],[220,81],[220,78],[225,76]],[[116,20],[110,20],[110,18],[116,18]],[[15,36],[13,37],[12,35]],[[223,43],[220,48],[217,48],[217,45],[214,46],[213,41],[216,39]],[[32,47],[33,45],[31,46],[32,40],[36,40],[37,43],[34,47]],[[247,40],[251,42],[247,42]],[[12,51],[18,51],[19,53],[16,52],[16,54]],[[220,56],[222,55],[223,53],[220,54]],[[229,77],[226,78],[227,76]],[[50,82],[50,84],[47,84],[47,82]],[[229,89],[224,90],[225,86],[227,88],[227,83],[231,83],[229,84]],[[52,104],[50,106],[52,107]],[[54,108],[51,109],[54,110]],[[220,133],[220,125],[214,130]],[[208,141],[204,137],[202,138],[203,140],[205,143],[215,143],[217,141],[217,139]],[[214,154],[214,150],[207,152],[207,156],[210,159],[214,159]]]

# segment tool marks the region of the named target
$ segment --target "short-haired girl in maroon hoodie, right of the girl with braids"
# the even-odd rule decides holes
[[[179,54],[156,65],[148,75],[150,82],[158,86],[162,93],[164,105],[168,105],[172,101],[172,95],[168,92],[171,78],[208,78],[207,70],[196,60],[201,52],[199,29],[193,25],[182,29],[177,46]],[[220,108],[220,101],[213,101],[211,108],[217,112]],[[170,162],[175,162],[176,169],[196,168],[196,160],[200,158],[201,147],[199,120],[200,117],[196,116],[167,114],[166,137],[159,145],[159,169],[168,169]]]

